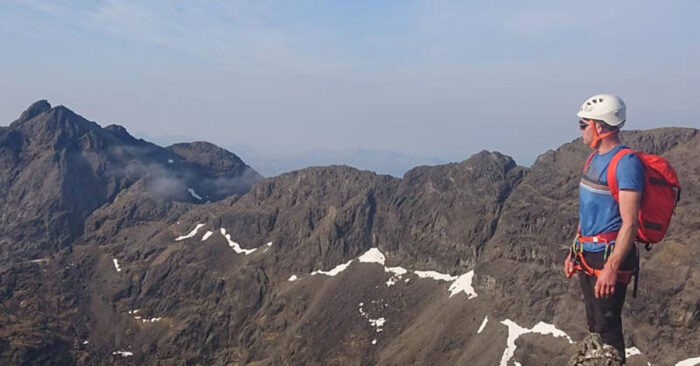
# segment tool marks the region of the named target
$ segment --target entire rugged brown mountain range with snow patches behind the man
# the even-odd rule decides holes
[[[66,184],[99,189],[85,190],[92,205],[69,211],[81,212],[74,219],[80,229],[45,257],[34,247],[43,232],[21,231],[26,223],[0,244],[0,252],[12,249],[12,260],[0,264],[0,363],[561,365],[575,347],[552,335],[516,337],[508,358],[512,326],[502,321],[523,329],[553,323],[574,340],[586,333],[577,283],[559,273],[589,153],[578,140],[530,169],[483,151],[402,179],[331,166],[259,180],[235,155],[207,143],[162,149],[119,126],[61,125],[56,121],[76,120],[67,109],[34,109],[41,112],[0,130],[0,188],[16,192],[17,177],[39,169],[27,162],[30,151],[54,156],[57,141],[63,151],[78,140],[83,147],[71,151],[91,173]],[[58,127],[19,128],[51,113],[64,114],[47,117]],[[76,137],[91,131],[92,139]],[[629,364],[646,364],[644,357],[675,364],[700,349],[693,337],[698,254],[691,250],[700,239],[700,137],[694,129],[658,129],[623,139],[666,156],[684,187],[669,238],[643,255],[640,293],[624,312],[628,346],[644,353]],[[116,149],[122,159],[104,152],[127,143]],[[131,161],[149,168],[129,168]],[[117,164],[107,180],[93,169]],[[62,177],[65,165],[39,167]],[[150,174],[153,166],[191,176]],[[194,186],[246,174],[259,180],[249,190]],[[173,176],[182,183],[169,182]],[[25,196],[44,194],[41,202],[75,198],[24,181],[36,184],[25,184]],[[220,200],[193,204],[201,200],[186,188]],[[3,222],[32,212],[29,200],[6,197],[0,195],[15,206]],[[61,205],[35,215],[55,220]],[[384,265],[358,259],[370,248],[384,253]],[[406,273],[387,272],[398,266]],[[443,280],[417,270],[440,272]],[[457,276],[471,270],[478,296],[451,296]]]

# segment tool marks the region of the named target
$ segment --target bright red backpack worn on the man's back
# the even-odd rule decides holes
[[[673,210],[680,200],[681,186],[678,176],[666,159],[632,149],[622,149],[613,156],[608,166],[608,187],[616,202],[619,202],[617,185],[617,163],[627,154],[635,154],[644,166],[644,191],[639,209],[639,228],[636,240],[650,244],[658,243],[666,235]]]

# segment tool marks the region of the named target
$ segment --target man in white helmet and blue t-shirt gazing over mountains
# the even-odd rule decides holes
[[[625,148],[619,138],[626,118],[625,103],[614,95],[595,95],[583,103],[577,116],[581,118],[583,142],[594,152],[579,185],[579,232],[564,262],[564,271],[570,277],[583,267],[579,281],[588,328],[617,349],[624,364],[622,306],[637,265],[634,239],[639,225],[644,170],[634,154],[619,160],[616,172],[619,203],[616,202],[608,188],[607,171],[613,156]]]

